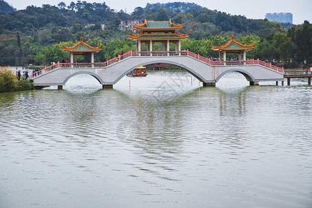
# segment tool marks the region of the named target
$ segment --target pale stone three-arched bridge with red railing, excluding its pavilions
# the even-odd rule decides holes
[[[103,88],[112,88],[133,69],[155,63],[182,67],[203,83],[216,86],[222,76],[231,71],[242,73],[250,85],[261,81],[284,81],[284,69],[260,60],[213,61],[189,51],[132,52],[103,63],[55,64],[33,74],[35,86],[58,85],[62,89],[69,78],[86,73],[98,80]]]

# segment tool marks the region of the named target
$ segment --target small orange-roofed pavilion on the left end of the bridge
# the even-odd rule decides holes
[[[63,51],[71,53],[71,67],[73,67],[73,55],[91,55],[92,67],[94,67],[94,53],[100,52],[102,49],[102,44],[94,48],[83,42],[83,37],[80,37],[80,42],[71,48],[67,48],[64,45]]]

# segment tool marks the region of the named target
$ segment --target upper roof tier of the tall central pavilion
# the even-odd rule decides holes
[[[138,31],[168,31],[168,30],[180,30],[184,24],[173,24],[171,19],[169,21],[144,21],[141,25],[132,25],[135,30]]]

